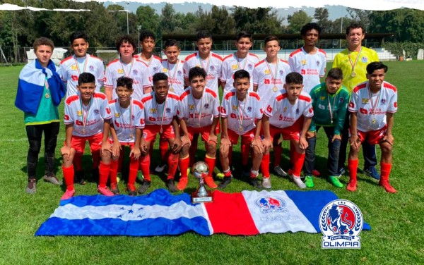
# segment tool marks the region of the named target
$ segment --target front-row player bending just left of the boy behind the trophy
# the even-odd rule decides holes
[[[181,149],[181,140],[179,137],[179,128],[177,121],[177,107],[179,97],[177,94],[169,92],[167,75],[165,73],[155,73],[153,75],[153,92],[146,94],[141,102],[144,105],[146,126],[143,130],[141,140],[141,172],[143,173],[143,183],[138,192],[143,194],[151,185],[149,149],[151,141],[156,139],[159,133],[160,137],[165,137],[170,144],[171,152],[168,156],[168,175],[166,185],[171,192],[176,192],[177,187],[174,183],[175,171],[178,167],[179,150]]]

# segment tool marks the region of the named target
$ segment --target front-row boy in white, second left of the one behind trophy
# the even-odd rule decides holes
[[[103,135],[103,143],[106,144],[107,149],[112,149],[112,163],[110,169],[105,169],[105,172],[110,172],[110,190],[116,195],[119,194],[119,187],[117,185],[117,171],[118,171],[118,158],[119,154],[124,153],[124,147],[129,146],[129,175],[126,190],[131,196],[137,195],[136,183],[137,171],[139,170],[139,157],[140,157],[140,140],[144,128],[144,107],[141,101],[131,98],[134,90],[132,88],[131,78],[121,77],[117,80],[117,95],[118,99],[110,101],[109,107],[112,114],[111,121],[111,141],[112,147],[109,144],[109,135]],[[102,166],[100,164],[100,174],[102,173]],[[109,166],[109,165],[108,165]]]

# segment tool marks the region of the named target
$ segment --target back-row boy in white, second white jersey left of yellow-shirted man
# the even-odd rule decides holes
[[[288,62],[278,59],[278,51],[280,51],[278,37],[266,37],[264,39],[264,51],[266,58],[259,61],[253,70],[253,90],[261,97],[262,109],[265,109],[270,99],[283,89],[285,76],[290,73]],[[281,142],[279,142],[280,137],[274,137],[273,140],[274,171],[278,175],[287,175],[280,167],[281,154],[283,153]]]

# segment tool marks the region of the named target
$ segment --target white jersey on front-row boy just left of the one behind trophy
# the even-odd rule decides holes
[[[168,92],[166,100],[158,104],[155,92],[145,94],[141,103],[144,106],[146,125],[170,125],[174,116],[177,116],[179,97],[177,94]]]

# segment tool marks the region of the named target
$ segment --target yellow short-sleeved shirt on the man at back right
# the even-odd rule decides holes
[[[350,60],[349,60],[350,58]],[[355,76],[352,76],[352,64],[355,60],[358,62],[355,66]],[[340,68],[343,72],[343,85],[352,92],[353,87],[360,82],[367,81],[367,65],[373,61],[379,61],[377,52],[366,47],[362,47],[362,51],[349,52],[345,49],[334,57],[333,68]]]

